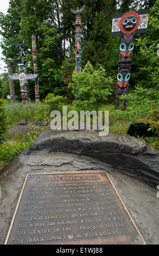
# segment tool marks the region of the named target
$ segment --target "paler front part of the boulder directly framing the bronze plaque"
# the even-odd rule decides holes
[[[28,173],[107,172],[146,244],[159,243],[159,199],[156,188],[120,173],[106,162],[72,153],[24,151],[0,173],[0,244],[7,236],[17,199]]]

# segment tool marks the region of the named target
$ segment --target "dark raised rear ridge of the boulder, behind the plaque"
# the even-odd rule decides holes
[[[30,147],[30,152],[65,152],[95,157],[121,172],[156,187],[159,184],[159,153],[145,141],[127,134],[95,131],[45,131]]]

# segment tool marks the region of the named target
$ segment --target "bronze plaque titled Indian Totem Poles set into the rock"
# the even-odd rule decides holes
[[[145,244],[107,173],[28,174],[5,244]]]

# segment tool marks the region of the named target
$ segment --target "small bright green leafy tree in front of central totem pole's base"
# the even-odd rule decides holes
[[[102,67],[94,70],[93,66],[88,62],[82,72],[73,72],[72,81],[69,87],[72,87],[72,93],[78,94],[83,100],[75,101],[75,106],[84,109],[99,107],[101,103],[108,99],[111,95],[112,78],[105,77],[106,72]],[[78,84],[78,86],[77,86]]]

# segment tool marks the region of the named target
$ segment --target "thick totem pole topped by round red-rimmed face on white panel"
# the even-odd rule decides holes
[[[147,13],[149,10],[129,11],[128,13],[113,15],[112,35],[121,35],[115,109],[122,103],[124,103],[124,109],[126,108],[126,102],[119,100],[118,96],[123,93],[127,94],[129,91],[134,34],[146,32]]]

